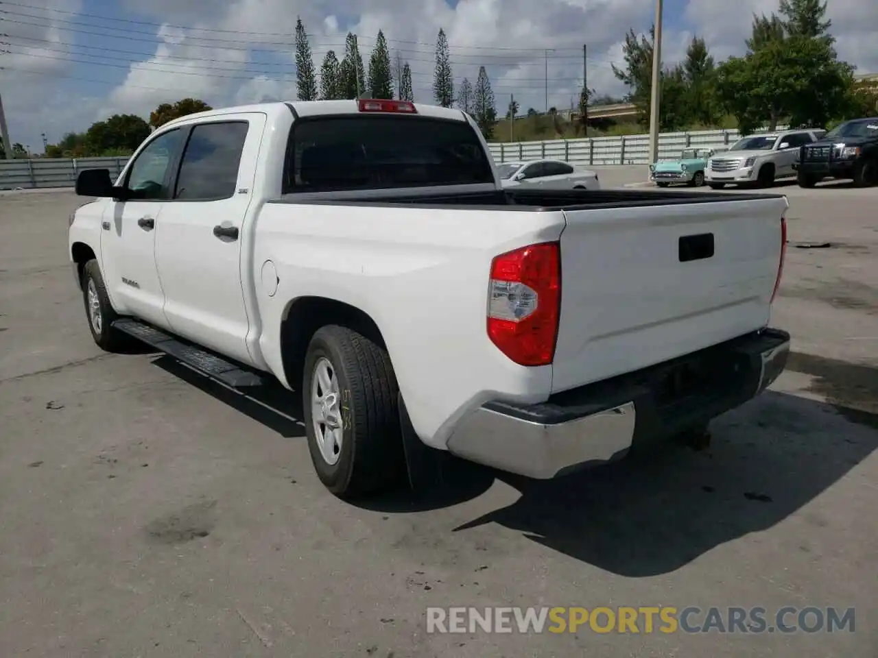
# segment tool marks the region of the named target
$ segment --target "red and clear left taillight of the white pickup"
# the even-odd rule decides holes
[[[561,311],[558,242],[500,254],[491,262],[488,337],[522,366],[545,366],[555,356]]]

